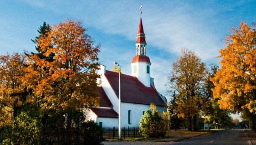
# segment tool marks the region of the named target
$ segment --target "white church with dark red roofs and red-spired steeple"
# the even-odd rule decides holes
[[[150,76],[150,59],[146,56],[146,40],[140,18],[136,41],[136,56],[131,62],[131,75],[120,74],[121,126],[137,127],[144,112],[150,104],[156,105],[159,112],[165,111],[166,98],[155,88],[154,79]],[[91,107],[85,111],[86,119],[92,119],[103,127],[117,127],[119,121],[119,73],[98,70],[97,92],[100,96],[100,107]]]

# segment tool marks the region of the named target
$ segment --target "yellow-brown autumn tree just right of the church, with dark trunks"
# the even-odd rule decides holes
[[[205,83],[206,68],[201,59],[189,50],[181,50],[181,55],[172,64],[172,72],[168,77],[169,92],[177,92],[179,116],[189,122],[192,130],[192,119],[196,122],[202,107],[202,91]],[[194,130],[197,130],[196,123]]]

